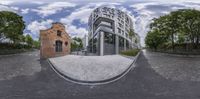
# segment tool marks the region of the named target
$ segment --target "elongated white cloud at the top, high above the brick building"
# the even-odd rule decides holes
[[[47,5],[40,6],[38,9],[32,9],[32,11],[37,12],[39,15],[42,15],[43,17],[52,15],[57,13],[58,11],[63,10],[64,8],[68,7],[75,7],[76,4],[69,3],[69,2],[53,2],[48,3]]]

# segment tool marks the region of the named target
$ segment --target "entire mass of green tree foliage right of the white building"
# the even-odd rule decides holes
[[[149,48],[174,48],[190,43],[198,48],[200,39],[200,11],[182,9],[153,19],[145,43]],[[163,39],[163,40],[162,40]],[[171,43],[169,43],[171,42]],[[171,47],[169,47],[171,46]],[[200,47],[199,47],[200,48]]]

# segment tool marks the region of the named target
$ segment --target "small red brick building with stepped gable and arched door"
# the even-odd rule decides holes
[[[71,38],[61,23],[52,23],[47,30],[40,30],[40,57],[50,58],[70,53]]]

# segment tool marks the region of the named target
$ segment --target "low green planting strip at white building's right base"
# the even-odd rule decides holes
[[[131,49],[131,50],[122,51],[120,52],[120,54],[126,55],[126,56],[136,56],[139,51],[140,49]]]

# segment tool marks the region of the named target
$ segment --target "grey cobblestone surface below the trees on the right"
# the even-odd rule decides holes
[[[200,81],[200,57],[175,56],[144,51],[151,67],[166,79]]]

